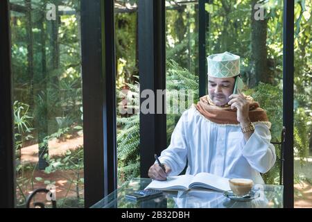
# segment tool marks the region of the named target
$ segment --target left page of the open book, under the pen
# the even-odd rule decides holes
[[[167,180],[153,180],[145,189],[162,189],[162,190],[186,190],[194,176],[168,176]]]

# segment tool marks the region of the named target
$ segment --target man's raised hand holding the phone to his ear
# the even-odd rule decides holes
[[[237,109],[237,121],[243,125],[248,125],[250,123],[249,103],[247,99],[245,99],[245,96],[240,92],[239,94],[232,94],[229,96],[229,99],[231,99],[229,105],[231,105],[232,110],[234,108]]]

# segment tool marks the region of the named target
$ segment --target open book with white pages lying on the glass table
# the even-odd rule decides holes
[[[193,175],[168,176],[167,180],[153,180],[145,189],[161,190],[188,190],[188,189],[214,189],[227,191],[229,179],[211,173],[198,173]]]

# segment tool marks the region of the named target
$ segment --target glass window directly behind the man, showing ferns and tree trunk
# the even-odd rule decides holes
[[[239,55],[241,76],[247,86],[245,94],[252,96],[266,110],[272,123],[271,141],[280,142],[283,2],[270,0],[257,4],[257,1],[207,1],[205,11],[207,18],[201,19],[206,20],[207,26],[199,27],[198,1],[167,3],[167,89],[193,89],[193,103],[197,103],[198,44],[206,45],[206,56],[225,51]],[[198,42],[199,28],[206,28],[206,42]],[[168,144],[181,114],[167,115]],[[277,144],[275,148],[276,164],[262,175],[267,184],[279,184],[281,146]]]

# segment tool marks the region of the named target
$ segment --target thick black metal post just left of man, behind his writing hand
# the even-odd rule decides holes
[[[140,91],[166,89],[165,1],[139,0],[139,75]],[[156,93],[155,93],[156,94]],[[144,99],[141,99],[141,103]],[[163,110],[166,98],[163,103]],[[155,110],[157,104],[155,102]],[[166,148],[166,114],[140,113],[141,177],[155,162],[154,154]]]

